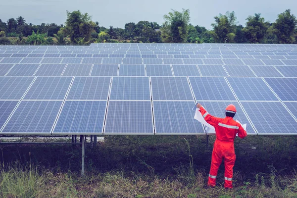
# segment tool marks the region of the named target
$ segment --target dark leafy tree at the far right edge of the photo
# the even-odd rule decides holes
[[[294,32],[297,25],[296,17],[291,14],[291,10],[278,15],[275,23],[273,23],[274,32],[277,36],[278,43],[292,44],[295,42]]]

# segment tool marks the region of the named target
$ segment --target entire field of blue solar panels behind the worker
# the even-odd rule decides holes
[[[297,135],[297,45],[0,46],[0,93],[0,134],[205,134],[200,102]]]

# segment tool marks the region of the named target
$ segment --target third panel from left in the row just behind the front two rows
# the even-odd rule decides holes
[[[66,64],[41,64],[35,76],[60,76]]]

